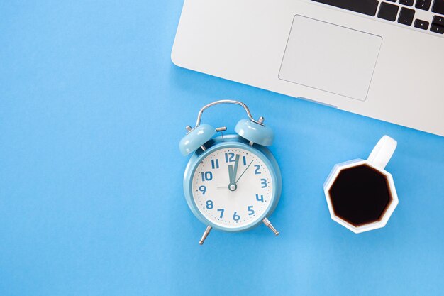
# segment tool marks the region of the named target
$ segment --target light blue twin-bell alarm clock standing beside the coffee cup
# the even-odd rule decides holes
[[[213,128],[201,124],[204,110],[218,104],[243,106],[248,119],[235,126],[237,135],[223,135],[226,127]],[[261,222],[275,235],[267,219],[279,202],[282,178],[270,150],[274,133],[257,121],[242,102],[221,100],[204,106],[196,126],[187,126],[187,135],[179,143],[182,155],[193,153],[184,173],[184,194],[193,214],[206,224],[200,244],[211,229],[245,231]],[[216,136],[221,133],[221,136]]]

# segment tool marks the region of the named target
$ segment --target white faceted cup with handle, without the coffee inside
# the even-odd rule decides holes
[[[396,189],[394,187],[392,175],[389,172],[387,172],[387,170],[384,170],[384,168],[389,162],[390,158],[392,158],[394,150],[396,149],[396,144],[397,143],[393,138],[390,138],[389,136],[383,136],[379,140],[377,145],[374,146],[372,153],[370,153],[370,156],[367,158],[367,160],[362,160],[362,159],[350,160],[345,163],[338,163],[337,165],[334,166],[333,170],[331,170],[330,175],[328,175],[327,180],[323,185],[323,190],[324,193],[326,194],[328,210],[330,211],[331,219],[333,219],[333,221],[336,221],[342,226],[345,226],[346,228],[355,232],[355,234],[359,234],[364,231],[370,231],[373,229],[379,229],[387,224],[387,221],[389,221],[390,216],[392,216],[394,209],[398,205],[398,195],[396,194]],[[348,168],[357,167],[360,165],[367,165],[370,168],[377,170],[377,172],[379,172],[381,175],[385,177],[385,179],[387,180],[387,190],[392,199],[388,202],[387,206],[382,212],[382,215],[379,217],[377,221],[372,221],[368,224],[355,226],[346,221],[345,219],[340,218],[340,216],[338,216],[337,214],[335,214],[331,200],[330,190],[335,181],[337,180],[338,175],[340,174],[341,171]]]

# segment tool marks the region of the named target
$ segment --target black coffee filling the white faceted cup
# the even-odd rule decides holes
[[[379,221],[392,201],[387,178],[368,165],[341,170],[329,193],[336,216],[354,226]]]

